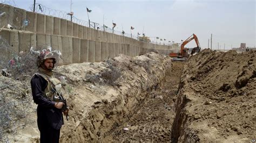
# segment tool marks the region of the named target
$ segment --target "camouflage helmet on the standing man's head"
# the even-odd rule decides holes
[[[53,60],[53,67],[56,63],[56,58],[53,55],[53,53],[49,50],[43,49],[37,57],[37,66],[40,67],[46,59],[52,59]]]

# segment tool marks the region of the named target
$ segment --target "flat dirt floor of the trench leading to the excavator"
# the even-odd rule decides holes
[[[109,141],[170,142],[175,117],[174,99],[178,91],[184,62],[173,62],[172,71],[150,92],[143,104],[134,110],[130,119],[106,134]],[[128,131],[125,131],[124,128]],[[126,130],[127,130],[126,129]]]

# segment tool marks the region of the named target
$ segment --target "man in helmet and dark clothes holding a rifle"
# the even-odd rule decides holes
[[[43,50],[37,58],[38,72],[31,78],[33,101],[37,106],[37,125],[40,142],[59,142],[60,128],[64,124],[59,102],[61,82],[55,78],[52,69],[56,58],[50,51]],[[68,111],[64,111],[66,114]]]

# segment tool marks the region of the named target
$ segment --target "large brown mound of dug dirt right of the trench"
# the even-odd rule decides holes
[[[191,57],[176,99],[173,142],[248,142],[256,135],[256,52]]]

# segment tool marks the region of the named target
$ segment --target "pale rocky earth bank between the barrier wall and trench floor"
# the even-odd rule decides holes
[[[134,114],[136,107],[143,103],[148,93],[160,84],[171,65],[170,58],[150,52],[136,58],[119,55],[105,62],[57,67],[56,77],[66,77],[67,84],[63,93],[70,107],[70,119],[64,119],[60,141],[91,142],[107,139],[106,133],[125,123]],[[8,79],[0,78],[3,83]],[[24,79],[16,85],[22,87],[26,84],[28,87],[30,78]],[[10,89],[6,92],[10,92]],[[10,96],[6,92],[3,96]],[[30,94],[29,92],[26,96],[31,96]],[[31,105],[29,108],[32,110],[17,122],[24,124],[15,128],[15,134],[5,132],[11,142],[39,140],[36,104],[31,99],[27,104]]]

